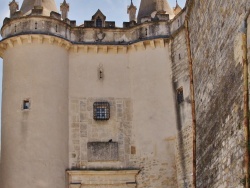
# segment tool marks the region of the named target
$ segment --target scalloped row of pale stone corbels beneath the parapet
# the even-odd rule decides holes
[[[65,48],[69,52],[73,53],[128,53],[137,50],[146,50],[147,48],[164,48],[165,44],[168,43],[169,38],[155,38],[148,39],[143,41],[136,41],[130,44],[100,44],[100,43],[84,43],[77,44],[72,43],[68,40],[57,36],[51,35],[42,35],[42,34],[26,34],[26,35],[17,35],[9,37],[0,41],[0,57],[3,57],[3,54],[6,49],[13,48],[17,45],[23,44],[51,44],[57,45],[59,47]]]

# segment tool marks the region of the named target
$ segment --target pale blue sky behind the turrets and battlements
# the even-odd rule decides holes
[[[11,0],[1,0],[0,6],[0,27],[2,27],[3,19],[9,17],[9,2]],[[58,10],[60,10],[60,3],[63,0],[55,0]],[[23,0],[16,0],[21,7]],[[122,23],[129,21],[127,14],[127,6],[130,5],[131,0],[67,0],[70,5],[69,19],[76,20],[77,25],[84,23],[84,20],[90,20],[91,17],[100,9],[106,16],[107,21],[115,21],[116,26],[121,27]],[[171,7],[176,5],[176,0],[168,0]],[[186,0],[178,0],[178,4],[184,7]],[[133,4],[139,10],[140,0],[133,0]],[[1,40],[1,37],[0,37]],[[3,61],[0,58],[0,104],[2,99],[2,70]],[[0,113],[1,119],[1,113]],[[0,129],[1,132],[1,129]]]

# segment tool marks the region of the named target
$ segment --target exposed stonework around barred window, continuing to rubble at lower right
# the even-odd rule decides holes
[[[110,103],[110,120],[93,119],[93,103]],[[132,135],[133,103],[127,98],[79,98],[70,100],[70,168],[71,169],[140,169],[138,188],[176,187],[174,161],[175,137],[168,138],[169,156],[165,160],[134,153],[136,138]],[[108,142],[112,139],[119,145],[119,161],[89,161],[88,142]],[[131,147],[132,146],[132,147]],[[136,149],[136,148],[134,148]],[[133,149],[133,150],[134,150]]]

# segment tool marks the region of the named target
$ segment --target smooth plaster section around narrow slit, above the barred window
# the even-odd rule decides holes
[[[99,69],[103,79],[99,78]],[[88,53],[73,50],[69,55],[69,96],[70,97],[115,97],[130,96],[128,55],[115,53]]]

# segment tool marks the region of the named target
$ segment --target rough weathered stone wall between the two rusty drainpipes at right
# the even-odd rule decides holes
[[[194,0],[190,15],[197,187],[241,187],[243,66],[234,56],[249,0]]]

